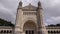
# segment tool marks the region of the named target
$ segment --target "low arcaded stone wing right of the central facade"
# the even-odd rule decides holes
[[[48,34],[60,34],[60,26],[47,26]]]

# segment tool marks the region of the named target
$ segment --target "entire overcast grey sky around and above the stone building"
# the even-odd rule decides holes
[[[0,18],[15,23],[17,7],[20,0],[0,0]],[[45,24],[60,23],[60,0],[40,0],[44,11]],[[37,6],[37,0],[23,0],[23,6],[31,3]]]

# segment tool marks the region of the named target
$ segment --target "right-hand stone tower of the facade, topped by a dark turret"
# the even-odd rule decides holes
[[[38,34],[48,34],[45,24],[43,22],[43,11],[42,11],[41,3],[38,2],[37,8],[37,23],[38,23]]]

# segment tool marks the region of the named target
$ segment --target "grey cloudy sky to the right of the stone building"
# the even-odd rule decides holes
[[[58,17],[60,16],[60,0],[41,0],[43,11],[44,11],[44,21],[46,24],[57,24],[60,23]],[[52,20],[53,18],[57,20]]]

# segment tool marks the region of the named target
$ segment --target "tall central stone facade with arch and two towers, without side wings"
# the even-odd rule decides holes
[[[37,7],[31,3],[22,7],[22,1],[19,2],[14,34],[48,34],[40,1]]]

